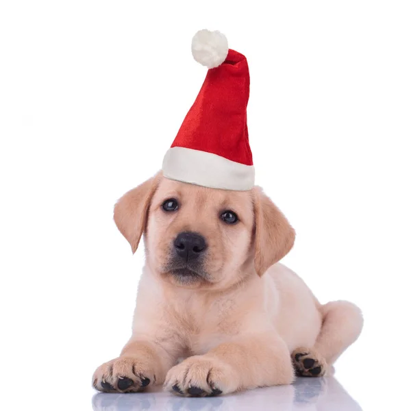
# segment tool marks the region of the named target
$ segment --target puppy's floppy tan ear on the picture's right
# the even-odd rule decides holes
[[[261,276],[290,251],[294,245],[295,231],[260,187],[254,188],[253,194],[256,218],[254,264]]]

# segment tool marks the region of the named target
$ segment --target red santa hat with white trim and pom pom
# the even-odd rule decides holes
[[[247,131],[247,59],[228,48],[223,34],[208,30],[195,34],[191,50],[209,70],[164,156],[164,177],[224,190],[250,190],[254,167]]]

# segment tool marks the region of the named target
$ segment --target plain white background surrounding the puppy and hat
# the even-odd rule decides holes
[[[409,1],[388,0],[1,1],[4,408],[41,395],[42,409],[91,409],[92,372],[129,337],[144,256],[112,208],[160,169],[206,75],[190,54],[204,27],[249,60],[257,183],[297,230],[284,262],[322,302],[364,312],[337,379],[364,410],[399,407],[410,20]]]

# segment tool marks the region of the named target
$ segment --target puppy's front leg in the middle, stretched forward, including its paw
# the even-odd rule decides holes
[[[270,331],[232,337],[187,358],[167,373],[164,385],[179,395],[203,397],[290,384],[294,377],[286,343]]]

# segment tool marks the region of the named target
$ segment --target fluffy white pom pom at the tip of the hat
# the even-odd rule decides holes
[[[203,29],[197,32],[191,42],[192,57],[208,69],[223,64],[228,54],[228,41],[223,33]]]

